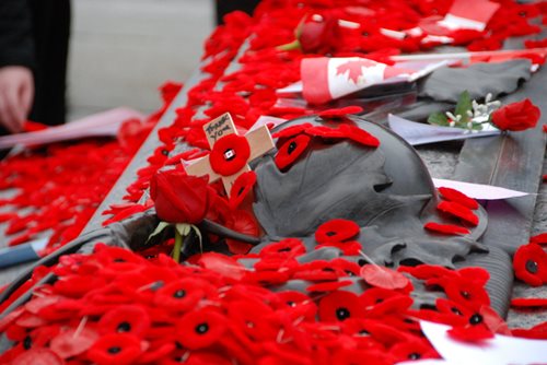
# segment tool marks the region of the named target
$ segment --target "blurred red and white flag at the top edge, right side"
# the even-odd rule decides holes
[[[482,32],[500,4],[488,0],[456,0],[439,25],[451,31],[475,30]]]

